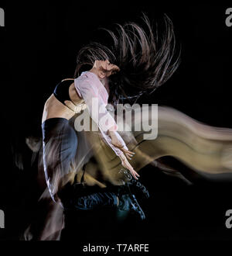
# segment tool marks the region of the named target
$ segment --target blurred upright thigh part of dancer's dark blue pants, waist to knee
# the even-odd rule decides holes
[[[43,167],[46,184],[55,201],[60,181],[75,166],[77,134],[64,118],[47,119],[43,130]]]

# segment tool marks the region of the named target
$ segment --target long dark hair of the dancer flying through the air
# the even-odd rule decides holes
[[[155,32],[145,14],[142,21],[145,29],[135,22],[116,24],[116,32],[104,29],[110,34],[113,45],[89,43],[77,54],[77,68],[74,78],[80,75],[82,67],[92,67],[94,61],[108,59],[118,65],[120,71],[109,77],[109,102],[124,102],[124,99],[138,99],[144,93],[152,93],[164,84],[179,66],[179,53],[176,53],[176,39],[171,19],[163,16],[164,30]]]

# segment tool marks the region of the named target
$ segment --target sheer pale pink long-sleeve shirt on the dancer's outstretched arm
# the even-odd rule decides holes
[[[111,143],[111,137],[107,135],[107,130],[112,127],[114,127],[118,140],[120,140],[123,147],[128,150],[128,147],[125,145],[125,141],[117,132],[118,126],[115,123],[114,118],[106,109],[109,95],[107,93],[107,89],[97,77],[97,74],[90,71],[82,72],[80,77],[74,79],[74,85],[78,95],[84,99],[90,116],[94,122],[97,123],[104,140],[106,140],[107,144],[112,148],[112,150],[114,150],[115,154],[119,156],[123,152],[118,147],[114,147]],[[97,108],[94,109],[92,107],[93,99],[97,102]],[[104,122],[104,120],[107,120],[107,122]]]

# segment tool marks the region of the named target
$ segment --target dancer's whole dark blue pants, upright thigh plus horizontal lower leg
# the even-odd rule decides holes
[[[72,169],[75,169],[77,153],[77,133],[67,119],[47,119],[42,124],[43,129],[43,166],[46,184],[53,201],[60,180]],[[114,192],[96,191],[92,188],[77,189],[77,186],[67,184],[59,192],[63,206],[73,209],[94,209],[99,206],[115,206],[118,199]],[[79,192],[79,193],[78,193]]]

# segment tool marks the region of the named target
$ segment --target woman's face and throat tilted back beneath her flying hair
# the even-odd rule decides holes
[[[109,77],[111,74],[120,71],[120,68],[114,64],[111,64],[110,61],[95,61],[94,66],[90,70],[94,74],[97,74],[98,78],[104,79]]]

